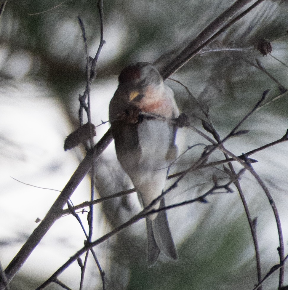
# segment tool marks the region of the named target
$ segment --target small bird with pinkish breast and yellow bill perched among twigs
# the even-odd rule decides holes
[[[179,116],[179,110],[172,89],[152,64],[132,63],[118,79],[119,86],[109,105],[116,154],[145,209],[161,195],[169,164],[177,157],[177,127],[171,120]],[[163,197],[150,209],[164,206]],[[148,215],[146,227],[148,267],[156,263],[160,252],[177,260],[166,212]]]

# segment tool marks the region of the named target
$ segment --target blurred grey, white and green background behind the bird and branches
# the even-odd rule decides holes
[[[224,9],[227,1],[118,0],[105,1],[104,45],[91,88],[92,122],[108,121],[108,105],[117,88],[122,68],[135,61],[155,62],[173,57]],[[201,108],[224,138],[255,106],[266,89],[268,100],[288,86],[288,4],[264,1],[204,48],[172,75],[180,110],[198,129]],[[42,219],[85,155],[84,148],[63,150],[65,137],[78,127],[79,94],[86,86],[86,56],[77,16],[84,22],[88,52],[95,56],[100,39],[97,1],[7,1],[0,18],[0,261],[5,268]],[[271,55],[263,56],[257,39],[271,41]],[[266,71],[257,68],[255,59]],[[277,58],[277,59],[275,59]],[[280,61],[279,61],[280,60]],[[268,73],[267,73],[268,72]],[[272,75],[274,80],[268,75]],[[276,81],[275,81],[276,80]],[[196,101],[196,99],[198,101]],[[225,147],[240,155],[281,138],[288,127],[287,94],[261,107],[241,129],[247,134],[229,139]],[[97,127],[95,142],[109,128]],[[207,132],[206,132],[207,133]],[[209,134],[209,133],[207,133]],[[212,137],[211,134],[209,134]],[[186,169],[209,143],[193,131],[177,133],[179,153],[199,144],[179,158],[172,173]],[[287,254],[287,142],[252,155],[252,164],[268,186],[279,210]],[[223,159],[215,153],[210,161]],[[236,172],[241,167],[235,164]],[[20,180],[31,187],[20,183]],[[195,198],[211,188],[215,178],[229,179],[223,167],[186,175],[167,195],[167,204]],[[74,205],[89,200],[89,177],[73,194]],[[241,186],[252,218],[257,217],[257,236],[263,276],[279,263],[276,222],[263,190],[251,174],[241,176]],[[47,189],[48,188],[48,189]],[[116,159],[113,142],[95,165],[97,197],[132,188]],[[160,257],[146,266],[146,229],[140,220],[95,247],[105,271],[105,289],[253,289],[257,283],[255,251],[245,212],[237,193],[213,194],[209,203],[193,203],[167,212],[179,260]],[[51,190],[54,189],[54,190]],[[95,206],[93,239],[139,212],[135,193]],[[87,224],[87,213],[79,213]],[[83,246],[85,236],[71,215],[59,219],[25,262],[11,289],[35,289]],[[79,289],[77,263],[60,275],[71,289]],[[276,271],[263,289],[278,287]],[[285,275],[285,283],[288,275]],[[47,289],[62,289],[53,284]],[[89,259],[84,289],[103,289],[99,271]]]

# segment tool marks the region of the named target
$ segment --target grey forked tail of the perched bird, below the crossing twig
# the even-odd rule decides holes
[[[160,207],[164,207],[164,198],[160,202]],[[153,220],[146,218],[147,227],[147,264],[152,267],[158,260],[160,252],[168,258],[177,260],[176,247],[170,232],[166,211],[161,211]]]

